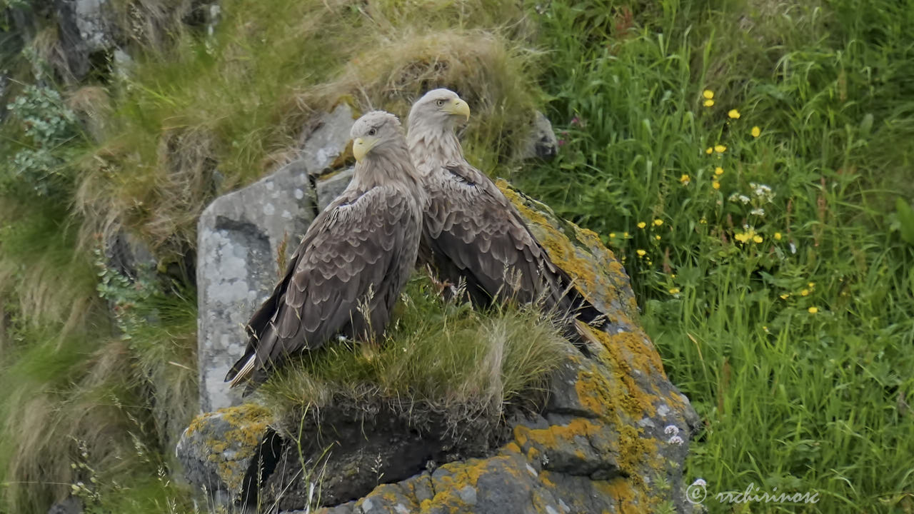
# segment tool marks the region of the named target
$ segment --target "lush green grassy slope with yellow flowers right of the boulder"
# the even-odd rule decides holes
[[[712,495],[754,483],[817,490],[809,510],[914,506],[914,252],[893,227],[914,183],[911,7],[667,0],[542,17],[565,145],[522,183],[627,259],[707,423],[688,476]],[[736,240],[744,225],[760,242]]]

